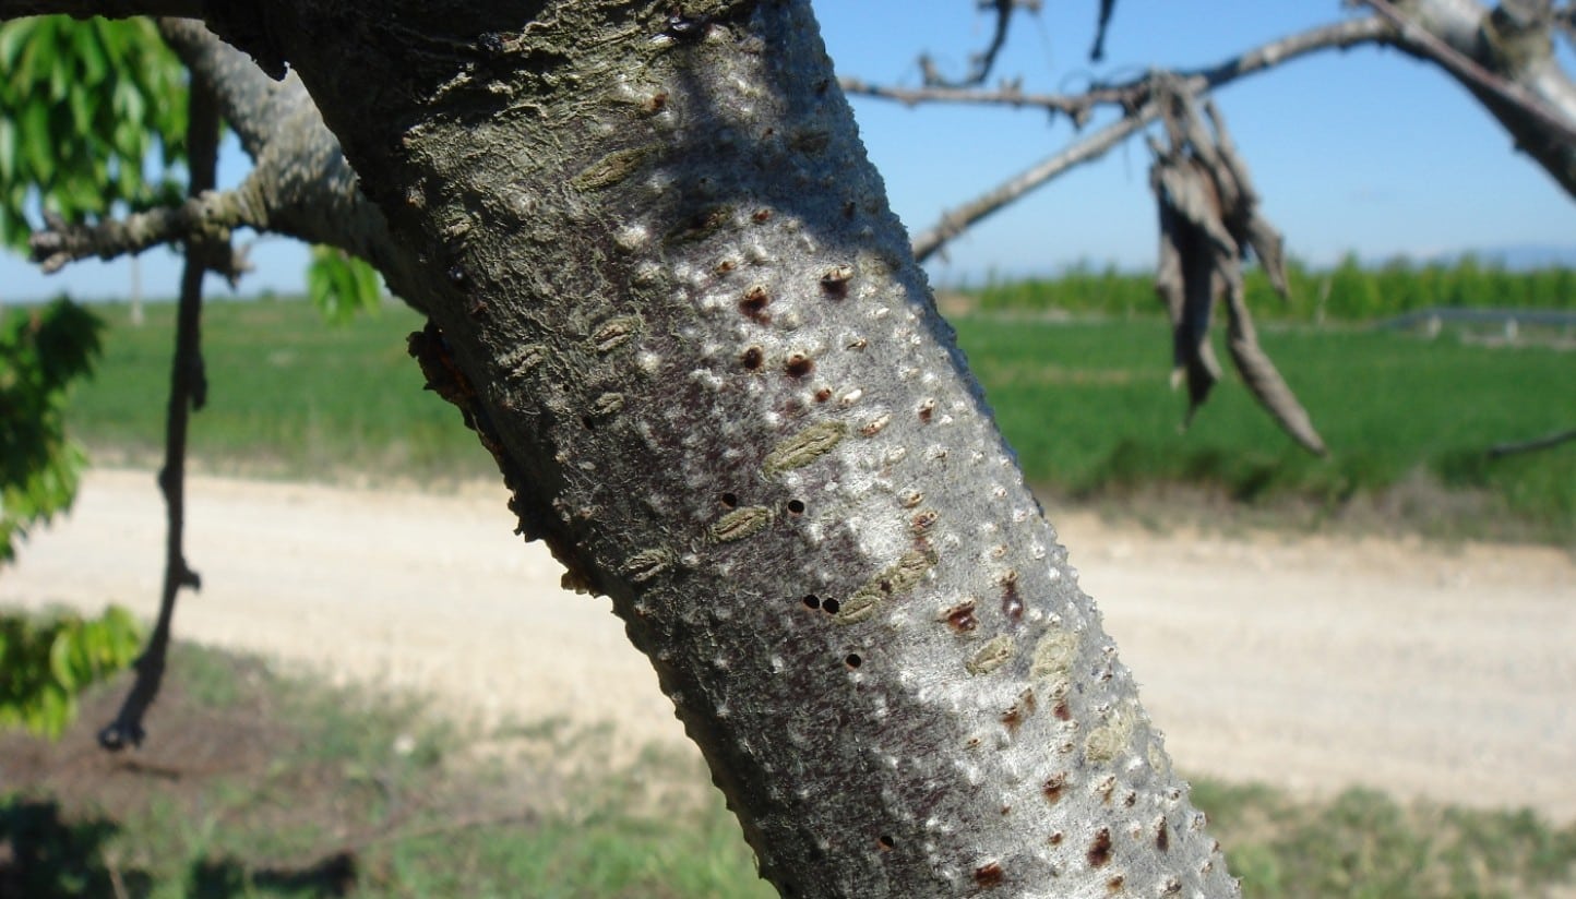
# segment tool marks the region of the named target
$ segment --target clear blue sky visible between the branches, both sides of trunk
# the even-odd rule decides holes
[[[842,0],[818,3],[838,71],[870,82],[919,85],[917,55],[949,74],[990,36],[972,0]],[[1121,0],[1106,60],[1087,61],[1095,0],[1045,3],[1020,14],[996,76],[1024,90],[1067,91],[1091,77],[1149,66],[1210,65],[1294,30],[1333,20],[1338,0]],[[1570,54],[1565,54],[1570,61]],[[996,77],[993,76],[993,77]],[[1576,244],[1576,202],[1526,157],[1475,101],[1431,66],[1376,49],[1327,52],[1231,85],[1217,94],[1253,170],[1264,211],[1291,250],[1316,265],[1346,250],[1365,258],[1433,255],[1507,246]],[[1039,112],[854,101],[860,134],[903,222],[920,230],[942,209],[1056,153],[1073,135]],[[1091,128],[1105,120],[1095,120]],[[979,282],[988,271],[1051,272],[1080,258],[1139,268],[1155,252],[1147,150],[1128,142],[987,220],[931,265],[939,282]],[[244,157],[230,146],[222,178]],[[304,249],[260,241],[258,271],[243,291],[301,288]],[[17,257],[0,260],[0,301],[68,290],[125,296],[129,265],[79,263],[43,277]],[[143,253],[142,290],[173,294],[177,260]]]

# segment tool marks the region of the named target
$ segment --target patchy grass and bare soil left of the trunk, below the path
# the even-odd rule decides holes
[[[58,745],[0,734],[0,896],[771,896],[689,757],[619,767],[594,732],[479,735],[180,646],[121,759],[91,740],[126,683]]]

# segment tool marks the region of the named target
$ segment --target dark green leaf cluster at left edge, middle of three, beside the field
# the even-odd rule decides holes
[[[58,299],[0,323],[0,562],[27,527],[71,505],[85,457],[66,441],[68,386],[99,356],[104,323]]]

